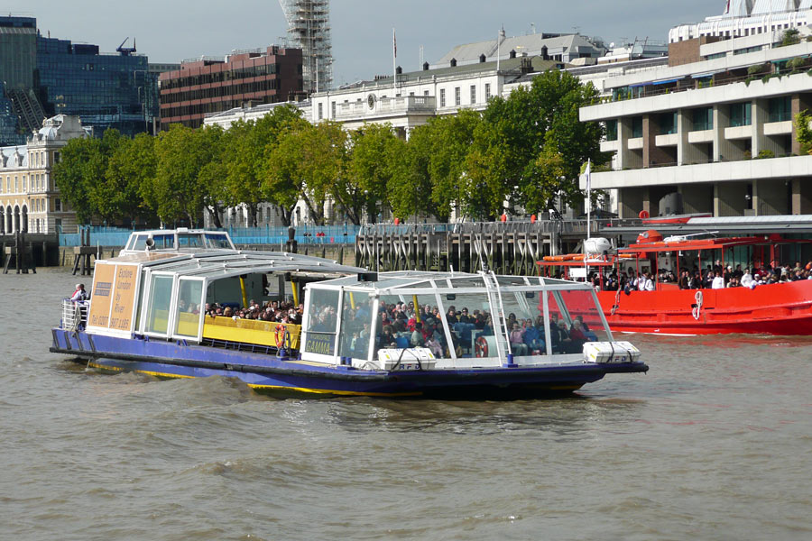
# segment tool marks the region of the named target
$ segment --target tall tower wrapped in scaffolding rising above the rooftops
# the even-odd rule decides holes
[[[329,0],[279,0],[288,35],[301,48],[304,90],[311,94],[333,84],[333,45]]]

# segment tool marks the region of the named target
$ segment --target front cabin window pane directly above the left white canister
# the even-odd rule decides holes
[[[417,303],[415,305],[415,302]],[[405,311],[398,310],[398,305],[405,304]],[[378,349],[403,349],[407,347],[427,347],[437,359],[450,359],[451,349],[458,347],[457,335],[446,332],[440,314],[443,306],[438,305],[434,295],[382,295],[375,320],[375,353]],[[420,335],[412,335],[416,330],[415,312],[420,312]],[[385,316],[384,316],[385,314]],[[448,335],[452,344],[449,347]]]

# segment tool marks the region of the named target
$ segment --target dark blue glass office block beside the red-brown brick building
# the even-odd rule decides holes
[[[49,115],[77,115],[98,135],[149,132],[157,80],[146,56],[99,53],[97,45],[37,38],[40,96]]]

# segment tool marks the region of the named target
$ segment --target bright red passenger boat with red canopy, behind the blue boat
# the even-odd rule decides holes
[[[627,248],[602,253],[546,257],[539,261],[541,274],[563,271],[564,278],[586,280],[586,273],[601,277],[597,291],[604,316],[613,331],[662,335],[711,335],[756,333],[770,335],[812,335],[812,280],[782,281],[754,288],[679,289],[678,282],[656,280],[660,269],[703,269],[721,261],[722,266],[752,262],[758,268],[774,263],[783,249],[795,243],[809,243],[778,234],[753,237],[691,239],[685,236],[663,239],[650,230]],[[727,256],[727,263],[725,263]],[[584,261],[586,257],[586,261]],[[774,265],[773,265],[774,266]],[[609,268],[634,274],[651,271],[654,290],[606,291],[604,274]],[[599,316],[595,314],[595,321]]]

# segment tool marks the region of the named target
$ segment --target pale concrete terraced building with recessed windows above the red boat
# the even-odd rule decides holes
[[[780,47],[786,30],[674,41],[668,66],[605,78],[611,96],[580,112],[606,125],[614,156],[592,188],[616,190],[623,217],[812,212],[812,156],[793,123],[812,106],[812,42],[804,26]]]

